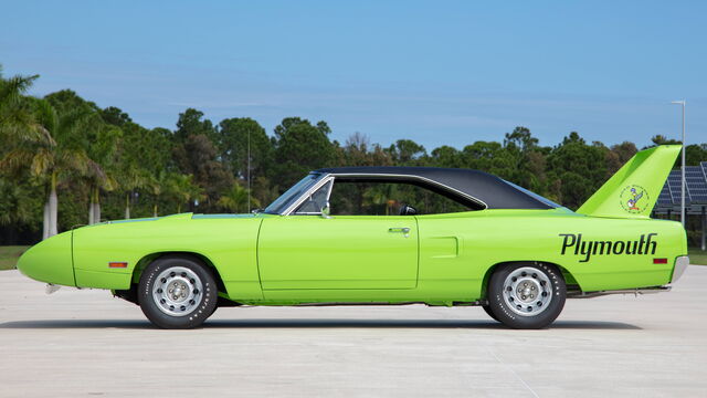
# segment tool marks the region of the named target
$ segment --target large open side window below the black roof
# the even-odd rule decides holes
[[[401,181],[335,179],[329,201],[331,216],[437,214],[472,210],[446,196]]]

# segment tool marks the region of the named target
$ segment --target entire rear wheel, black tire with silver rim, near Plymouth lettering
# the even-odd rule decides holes
[[[513,328],[547,327],[562,312],[566,297],[562,273],[550,264],[507,264],[498,268],[488,282],[490,312]]]

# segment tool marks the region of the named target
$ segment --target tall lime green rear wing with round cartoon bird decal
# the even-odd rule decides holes
[[[641,150],[576,212],[593,217],[647,219],[682,145]]]

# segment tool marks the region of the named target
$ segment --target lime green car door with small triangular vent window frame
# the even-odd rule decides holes
[[[319,188],[293,216],[263,220],[257,242],[263,290],[414,289],[415,217],[326,216],[321,208],[330,189],[330,184]]]

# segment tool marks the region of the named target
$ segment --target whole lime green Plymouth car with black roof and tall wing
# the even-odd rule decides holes
[[[640,151],[577,211],[477,170],[319,169],[254,213],[86,226],[18,269],[110,290],[165,328],[197,327],[218,306],[410,303],[479,305],[541,328],[567,297],[677,281],[685,230],[650,214],[679,150]]]

